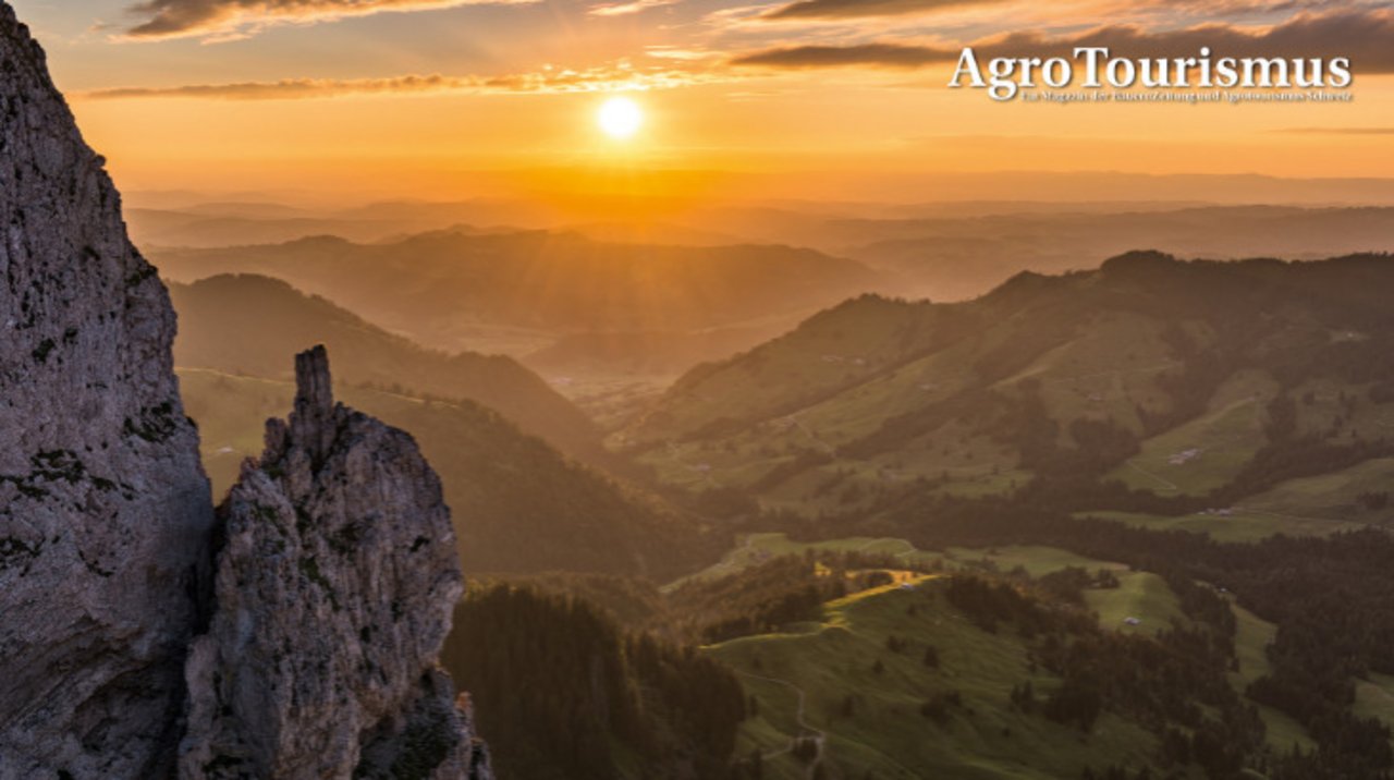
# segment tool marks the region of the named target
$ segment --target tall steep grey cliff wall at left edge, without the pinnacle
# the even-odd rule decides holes
[[[0,3],[0,777],[156,777],[213,512],[174,313]]]

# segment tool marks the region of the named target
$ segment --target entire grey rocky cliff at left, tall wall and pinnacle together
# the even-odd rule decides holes
[[[435,473],[316,350],[215,519],[166,290],[3,0],[0,230],[0,780],[488,777]]]

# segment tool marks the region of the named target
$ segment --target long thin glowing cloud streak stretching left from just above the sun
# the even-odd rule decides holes
[[[297,100],[347,95],[414,95],[432,92],[546,95],[574,92],[627,92],[675,89],[725,80],[715,73],[636,70],[606,66],[588,70],[544,70],[506,75],[399,75],[390,78],[286,78],[238,84],[190,84],[178,87],[120,87],[82,92],[89,100],[141,98],[204,98],[215,100]]]

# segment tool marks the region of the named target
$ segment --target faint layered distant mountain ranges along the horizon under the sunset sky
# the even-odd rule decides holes
[[[1298,198],[1291,198],[1298,202]],[[1213,205],[1203,202],[1044,202],[981,201],[962,204],[923,204],[871,208],[866,204],[730,204],[655,207],[657,213],[636,212],[625,220],[587,219],[585,212],[539,209],[537,204],[510,201],[467,201],[459,204],[374,204],[348,211],[309,211],[277,204],[202,204],[183,209],[135,209],[132,225],[142,243],[149,244],[166,272],[187,279],[205,268],[224,271],[273,272],[290,278],[293,271],[272,271],[270,255],[280,258],[314,254],[312,246],[279,253],[261,244],[296,243],[315,236],[339,236],[358,243],[382,243],[382,253],[397,257],[404,251],[424,253],[439,261],[442,253],[454,253],[466,261],[480,251],[499,251],[517,260],[537,251],[576,264],[576,258],[605,254],[605,247],[689,247],[767,262],[782,257],[772,247],[751,254],[744,244],[809,247],[834,257],[849,258],[874,269],[881,278],[860,279],[835,292],[850,296],[861,292],[894,292],[934,300],[963,300],[983,294],[1020,271],[1062,272],[1093,268],[1103,260],[1138,247],[1151,247],[1188,258],[1232,260],[1243,257],[1284,257],[1313,260],[1349,253],[1377,251],[1394,241],[1394,208],[1344,205]],[[502,227],[512,225],[513,227]],[[474,226],[474,227],[471,227]],[[482,227],[481,227],[482,226]],[[597,247],[548,244],[545,250],[484,250],[482,246],[454,248],[434,244],[422,250],[413,240],[422,232],[441,236],[471,236],[480,240],[519,234],[523,229],[545,229],[573,240],[588,240]],[[548,234],[548,233],[544,233]],[[507,243],[517,243],[512,240]],[[178,251],[169,247],[245,247],[215,255]],[[742,248],[733,248],[742,247]],[[790,251],[790,250],[785,250]],[[229,257],[229,254],[231,257]],[[612,254],[612,253],[611,253]],[[626,253],[620,253],[626,254]],[[633,254],[633,253],[629,253]],[[698,257],[701,253],[698,253]],[[569,260],[567,260],[569,258]],[[230,261],[234,261],[230,264]],[[434,264],[432,264],[434,265]],[[821,268],[821,265],[820,265]],[[527,265],[537,273],[535,265]],[[301,269],[301,273],[305,271]],[[665,272],[666,273],[666,272]],[[822,271],[815,271],[820,276]],[[549,279],[558,279],[549,271]],[[743,280],[761,280],[758,272]],[[570,279],[562,276],[560,280]],[[613,272],[606,275],[615,283]],[[297,276],[309,286],[311,279]],[[480,279],[482,280],[482,279]],[[684,285],[691,283],[683,278]],[[498,279],[489,282],[498,285]],[[815,279],[810,283],[818,285]],[[625,289],[622,285],[616,289]],[[694,293],[718,293],[700,285]],[[315,289],[314,292],[322,292]],[[340,290],[340,294],[343,292]],[[510,293],[513,294],[513,293]],[[796,296],[797,297],[797,296]],[[817,296],[814,296],[817,297]],[[337,299],[336,299],[337,300]],[[643,299],[634,299],[643,300]],[[661,300],[661,299],[659,299]],[[357,299],[343,303],[357,308]],[[590,300],[587,303],[595,303]],[[657,301],[655,301],[657,303]],[[796,301],[797,303],[797,301]],[[807,303],[807,301],[802,301]],[[834,303],[822,299],[821,306]],[[390,308],[390,307],[389,307]],[[781,310],[797,307],[779,307]],[[477,321],[507,321],[535,327],[548,320],[548,307],[533,317],[500,318],[496,311],[474,313]],[[679,310],[682,311],[682,310]],[[367,313],[365,314],[374,314]],[[383,311],[392,314],[392,311]],[[516,313],[514,313],[516,314]],[[807,314],[807,311],[804,311]],[[708,317],[703,327],[729,325],[744,317]],[[555,320],[555,318],[553,318]],[[388,320],[385,320],[388,321]],[[410,320],[403,320],[410,325]],[[672,331],[682,318],[648,318],[641,328]],[[555,325],[555,321],[552,322]],[[786,322],[788,324],[788,322]],[[565,322],[577,327],[574,311]],[[396,325],[395,325],[396,327]],[[595,311],[580,325],[590,331],[633,331],[633,321],[616,324],[612,313]],[[434,338],[429,329],[417,338]],[[456,345],[460,346],[460,345]],[[749,346],[749,345],[746,345]],[[521,353],[520,353],[521,354]]]

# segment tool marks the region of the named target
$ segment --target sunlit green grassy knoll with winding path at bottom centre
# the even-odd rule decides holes
[[[906,639],[907,649],[887,650],[891,635]],[[940,650],[937,670],[921,661],[927,645]],[[782,752],[800,733],[797,691],[804,692],[804,723],[827,734],[829,777],[868,770],[891,779],[1075,777],[1086,765],[1144,760],[1156,742],[1114,716],[1085,735],[1012,710],[1013,685],[1030,680],[1044,692],[1058,681],[1032,675],[1019,638],[976,628],[930,578],[916,590],[888,586],[832,601],[824,622],[806,632],[744,638],[708,652],[739,670],[760,700],[760,717],[747,721],[737,755],[765,752],[765,777],[804,776]],[[875,660],[884,666],[880,674]],[[965,703],[951,709],[948,724],[919,713],[928,696],[948,691],[959,691]],[[843,712],[848,696],[850,717]]]

